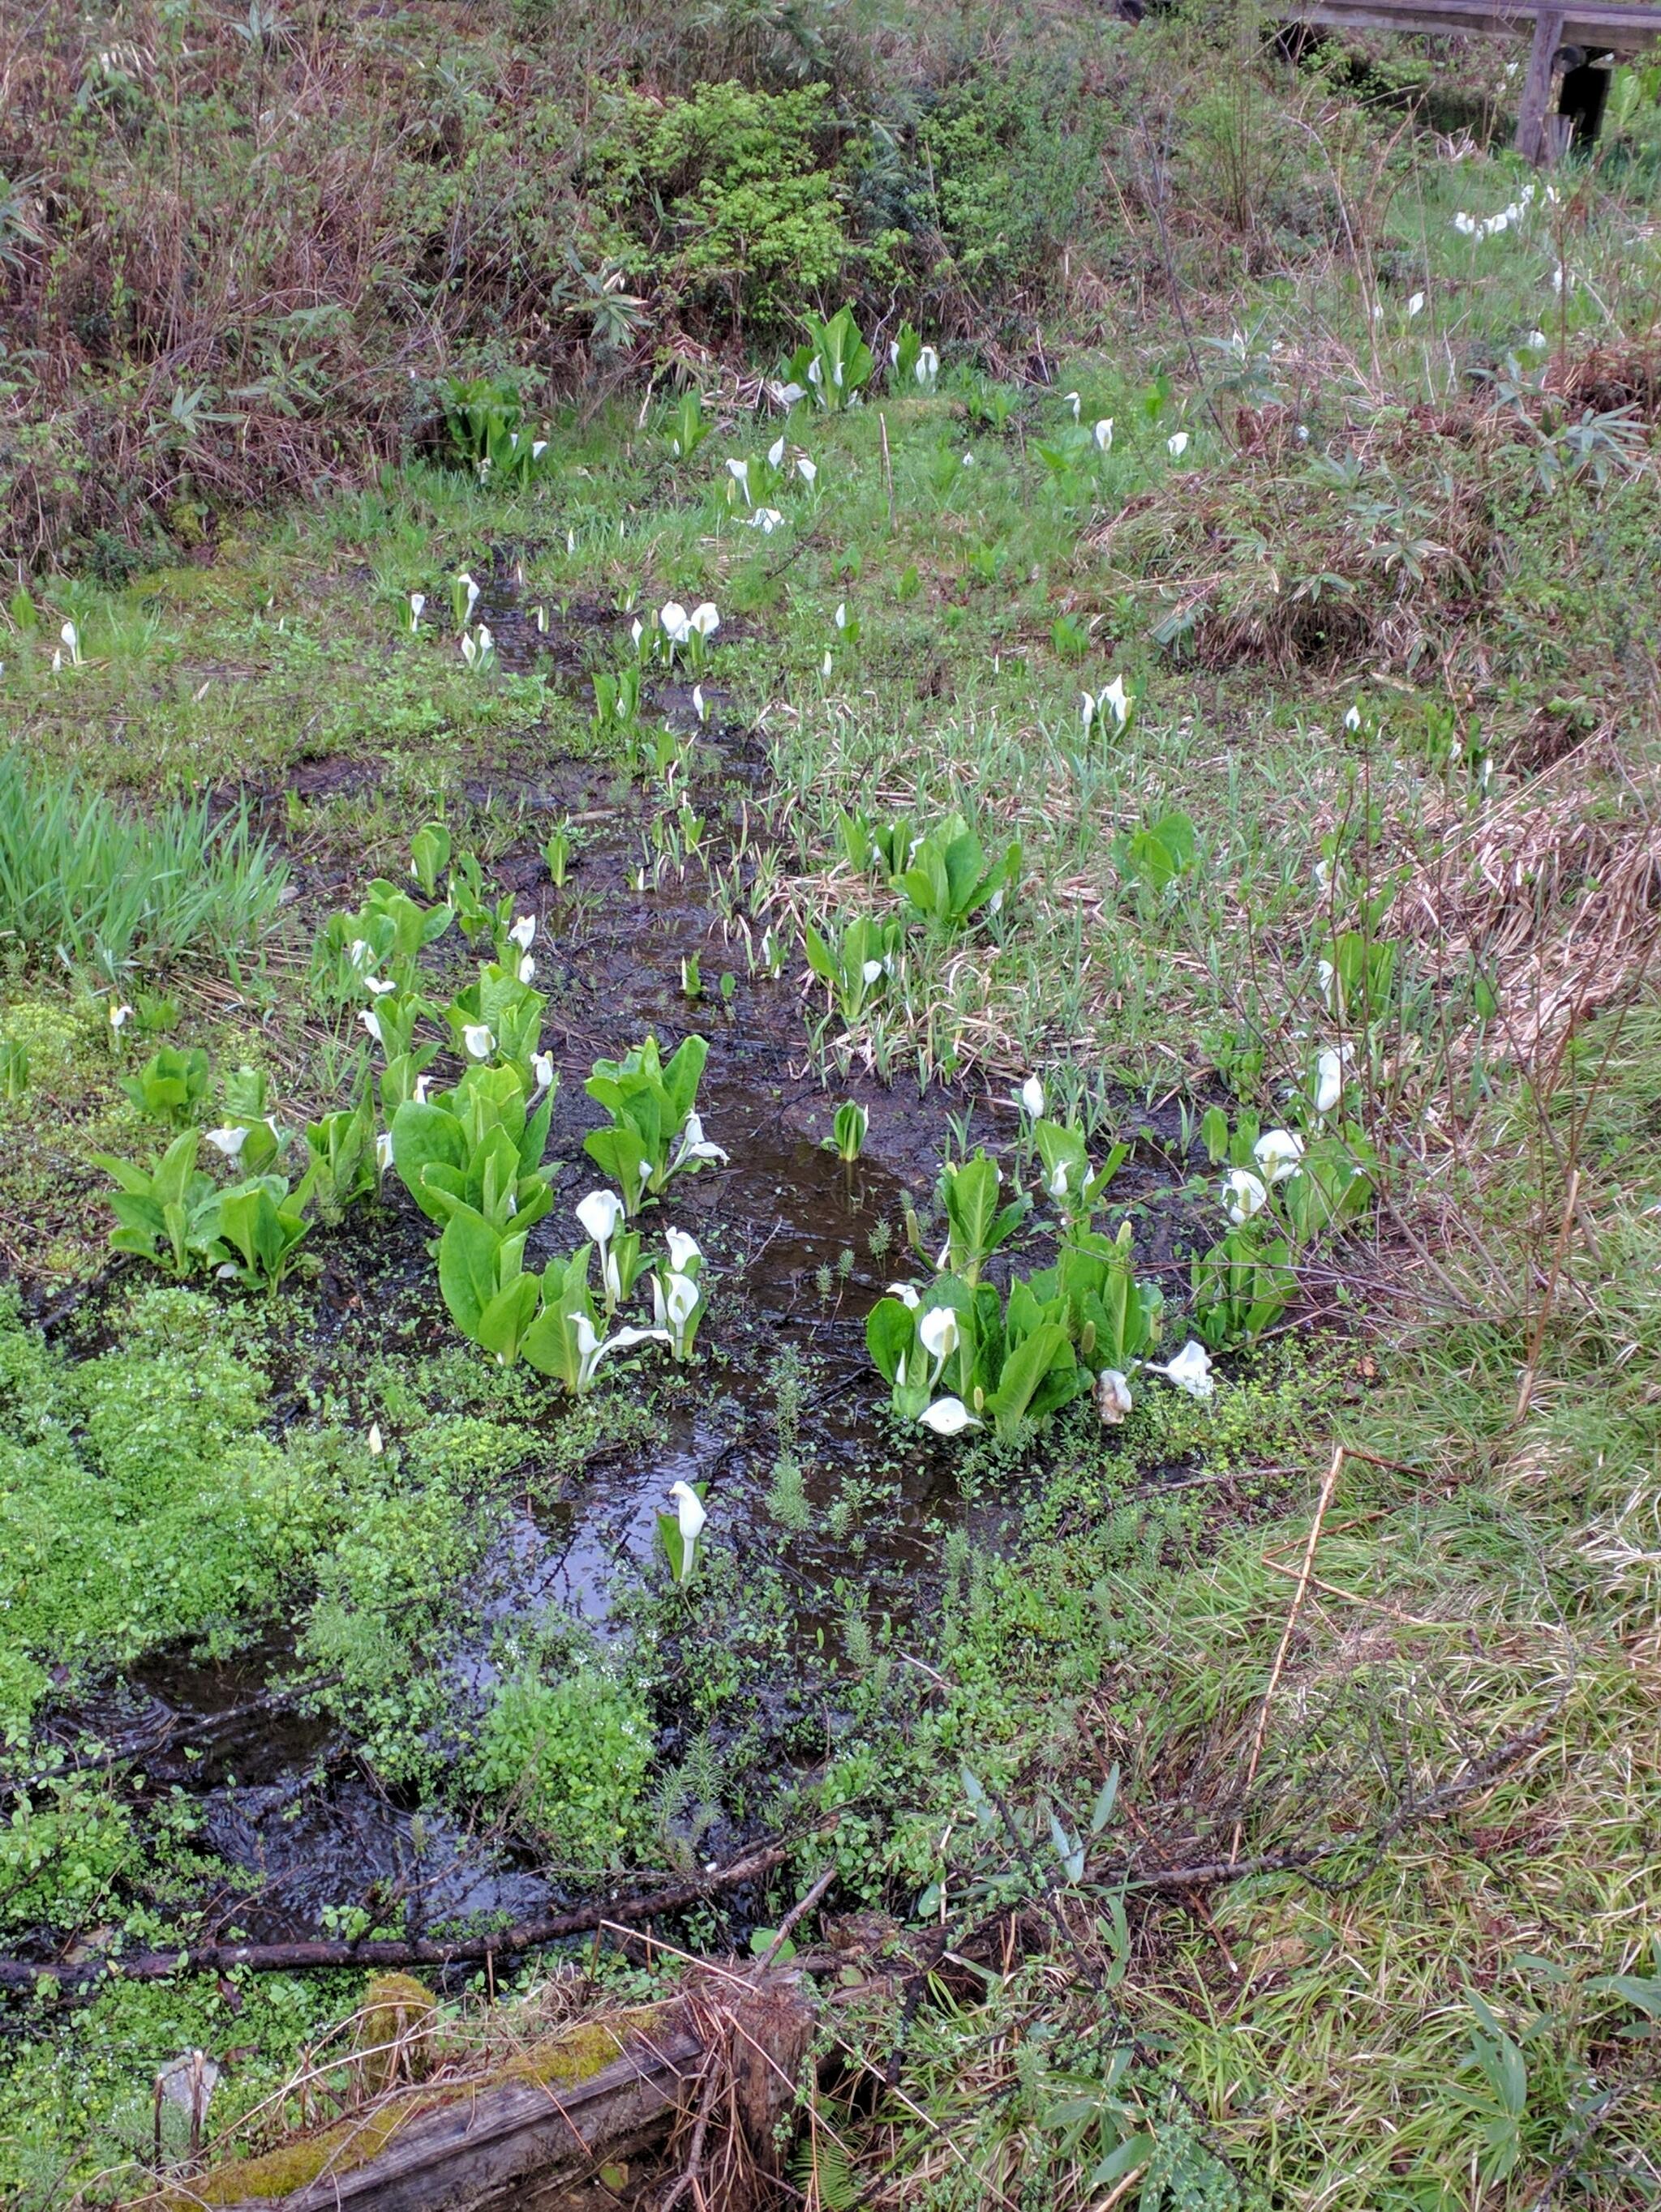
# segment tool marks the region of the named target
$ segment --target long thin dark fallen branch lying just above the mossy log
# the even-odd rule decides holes
[[[55,1982],[60,1991],[84,1989],[102,1980],[122,1982],[166,1982],[175,1973],[230,1973],[248,1966],[255,1973],[319,1973],[330,1966],[365,1966],[388,1971],[399,1966],[465,1966],[483,1960],[514,1958],[523,1951],[540,1951],[543,1944],[560,1942],[565,1936],[591,1936],[607,1920],[638,1922],[656,1920],[658,1913],[678,1913],[689,1905],[702,1905],[724,1889],[742,1889],[773,1867],[782,1867],[795,1845],[771,1843],[760,1851],[746,1851],[713,1874],[700,1874],[689,1882],[671,1882],[667,1889],[649,1891],[640,1898],[620,1898],[616,1905],[582,1905],[578,1911],[549,1913],[543,1920],[516,1920],[512,1927],[492,1929],[483,1936],[381,1936],[314,1942],[204,1942],[177,1951],[135,1951],[131,1958],[82,1958],[82,1960],[22,1960],[0,1958],[0,1989],[33,1991],[42,1982]]]

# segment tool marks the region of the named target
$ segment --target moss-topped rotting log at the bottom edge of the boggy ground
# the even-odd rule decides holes
[[[720,2110],[726,2135],[709,2137],[726,2170],[762,2181],[777,2172],[773,2141],[811,2035],[813,2004],[799,1973],[742,1966],[700,1973],[631,2026],[576,2022],[516,2051],[487,2073],[430,2079],[381,2095],[345,2119],[292,2137],[255,2159],[235,2159],[175,2181],[133,2212],[576,2212],[629,2203],[627,2183],[591,2194],[600,2168],[649,2161],[656,2183],[671,2139],[693,2110]],[[616,2051],[591,2066],[605,2048]],[[698,2130],[700,2146],[706,2126]],[[631,2179],[640,2179],[638,2174]],[[740,2208],[731,2188],[722,2203]]]

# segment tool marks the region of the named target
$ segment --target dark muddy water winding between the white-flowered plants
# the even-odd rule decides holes
[[[611,657],[627,630],[627,617],[594,608],[556,613],[540,630],[501,582],[481,615],[503,666],[545,666],[571,686],[585,684],[582,666]],[[695,812],[720,825],[749,799],[753,827],[764,759],[746,732],[724,726],[713,681],[706,697],[713,714],[700,726],[691,688],[664,681],[653,719],[698,737]],[[698,1365],[684,1387],[660,1396],[667,1411],[653,1444],[602,1453],[551,1502],[536,1486],[534,1502],[505,1513],[470,1586],[470,1626],[441,1663],[456,1705],[478,1710],[503,1635],[534,1630],[549,1615],[582,1621],[600,1639],[625,1635],[620,1595],[662,1575],[656,1522],[669,1484],[709,1484],[709,1546],[733,1559],[740,1577],[749,1564],[771,1566],[788,1590],[777,1736],[773,1752],[762,1752],[762,1763],[784,1772],[791,1717],[806,1705],[822,1710],[835,1694],[850,1593],[868,1617],[888,1617],[904,1635],[935,1599],[946,1533],[966,1526],[974,1542],[997,1544],[1012,1515],[1010,1504],[972,1506],[959,1495],[950,1447],[924,1440],[895,1453],[864,1349],[864,1316],[906,1272],[906,1201],[932,1188],[946,1117],[966,1102],[939,1091],[919,1102],[915,1091],[888,1093],[857,1075],[826,1093],[808,1068],[797,984],[744,973],[742,942],[722,942],[702,869],[633,889],[662,801],[636,792],[616,805],[616,781],[613,761],[554,761],[543,774],[518,765],[470,785],[470,796],[512,801],[525,818],[523,843],[494,874],[538,914],[538,987],[551,993],[545,1042],[563,1068],[551,1139],[565,1164],[558,1203],[527,1263],[543,1265],[578,1237],[571,1208],[596,1181],[580,1150],[585,1130],[600,1121],[582,1093],[594,1057],[622,1053],[647,1029],[664,1051],[698,1031],[709,1040],[700,1110],[731,1166],[680,1179],[651,1228],[691,1230],[715,1292]],[[571,878],[556,891],[540,845],[567,816],[580,818],[582,834]],[[729,865],[724,830],[713,830],[713,860]],[[680,962],[689,953],[700,956],[711,998],[722,971],[733,971],[731,1006],[684,1000]],[[870,1115],[866,1157],[853,1168],[822,1141],[842,1097]],[[1010,1130],[1012,1117],[977,1113],[977,1135],[994,1137],[999,1126]],[[1141,1175],[1149,1188],[1167,1179],[1158,1161]],[[1136,1164],[1127,1188],[1138,1188]],[[414,1208],[399,1203],[394,1274],[405,1283],[430,1272],[425,1237]],[[319,1343],[332,1334],[328,1310],[339,1301],[372,1349],[374,1325],[363,1316],[388,1310],[388,1281],[383,1252],[359,1261],[341,1239],[328,1256]],[[799,1531],[782,1531],[766,1509],[780,1451],[773,1371],[784,1352],[799,1354],[804,1391],[795,1453],[808,1515]],[[837,1513],[844,1486],[873,1462],[879,1482],[857,1493],[855,1511]],[[410,1924],[430,1924],[474,1911],[523,1916],[565,1896],[501,1838],[463,1832],[441,1807],[390,1798],[330,1723],[308,1717],[290,1677],[292,1644],[283,1637],[221,1663],[171,1655],[62,1717],[64,1741],[84,1730],[131,1759],[142,1796],[184,1790],[195,1798],[204,1845],[233,1869],[213,1911],[221,1927],[279,1940],[317,1931],[330,1909],[385,1920],[403,1905]],[[680,1739],[671,1714],[660,1747],[673,1754]],[[726,1840],[731,1832],[718,1827],[700,1847]]]

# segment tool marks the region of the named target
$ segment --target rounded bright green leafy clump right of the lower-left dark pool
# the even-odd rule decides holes
[[[556,1683],[516,1674],[498,1688],[474,1781],[509,1798],[518,1825],[574,1867],[605,1867],[636,1834],[649,1765],[644,1708],[622,1683],[585,1668]]]

